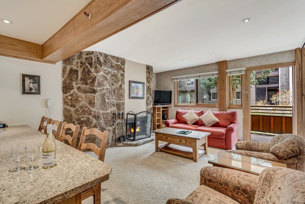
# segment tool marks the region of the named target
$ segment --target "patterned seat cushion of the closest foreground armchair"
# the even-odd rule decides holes
[[[195,191],[193,191],[186,200],[190,200],[195,203],[210,203],[210,204],[238,204],[239,202],[232,198],[215,191],[205,185],[200,185]]]

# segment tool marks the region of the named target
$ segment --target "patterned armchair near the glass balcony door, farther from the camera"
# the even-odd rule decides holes
[[[239,141],[228,152],[281,162],[287,168],[305,171],[305,141],[295,134],[278,134],[270,143]]]

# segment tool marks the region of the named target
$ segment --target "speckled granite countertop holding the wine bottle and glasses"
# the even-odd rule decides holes
[[[38,145],[42,148],[45,134],[29,126],[11,126],[0,131],[0,203],[56,203],[83,192],[109,179],[112,167],[77,149],[55,140],[57,166],[41,168],[41,156],[32,171],[8,172],[17,166],[11,160],[15,145]],[[30,161],[23,158],[21,166]]]

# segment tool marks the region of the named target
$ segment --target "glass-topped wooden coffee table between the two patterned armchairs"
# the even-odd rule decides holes
[[[286,164],[283,163],[262,160],[261,158],[244,156],[226,151],[219,151],[208,163],[213,164],[213,166],[216,167],[235,169],[255,175],[260,175],[260,173],[268,167],[287,167]]]

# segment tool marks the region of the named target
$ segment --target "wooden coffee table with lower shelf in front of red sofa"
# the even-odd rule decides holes
[[[177,133],[182,129],[162,128],[154,130],[156,134],[156,151],[164,151],[180,156],[193,158],[194,162],[203,154],[208,154],[208,135],[210,132],[192,130],[189,134]],[[159,147],[159,141],[167,144]]]

